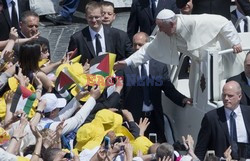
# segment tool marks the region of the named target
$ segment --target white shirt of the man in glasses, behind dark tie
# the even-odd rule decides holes
[[[89,32],[90,32],[90,36],[91,36],[91,39],[92,39],[92,44],[94,46],[94,50],[95,50],[95,53],[96,53],[96,37],[95,35],[96,34],[99,34],[99,40],[101,42],[101,46],[102,46],[102,52],[106,52],[106,44],[105,44],[105,37],[104,37],[104,31],[103,31],[103,26],[101,26],[101,29],[99,32],[95,32],[93,29],[91,29],[91,27],[89,27]]]

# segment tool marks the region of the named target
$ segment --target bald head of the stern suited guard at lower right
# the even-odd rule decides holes
[[[222,91],[224,107],[234,110],[241,100],[241,87],[236,81],[227,82]]]

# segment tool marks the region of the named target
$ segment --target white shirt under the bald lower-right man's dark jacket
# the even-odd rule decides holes
[[[227,127],[228,127],[228,132],[230,134],[230,114],[231,110],[225,108],[225,114],[226,114],[226,119],[227,119]],[[247,130],[245,126],[245,122],[242,116],[241,108],[238,106],[235,110],[235,123],[236,123],[236,131],[237,131],[237,141],[241,143],[248,143],[248,137],[247,137]]]

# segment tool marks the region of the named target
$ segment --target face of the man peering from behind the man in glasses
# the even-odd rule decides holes
[[[112,6],[102,6],[102,23],[105,25],[112,25],[114,20],[114,8]]]

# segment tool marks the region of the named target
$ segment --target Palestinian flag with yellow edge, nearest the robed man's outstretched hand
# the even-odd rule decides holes
[[[116,55],[107,53],[93,58],[90,61],[89,74],[102,75],[103,77],[114,74],[113,66]]]

